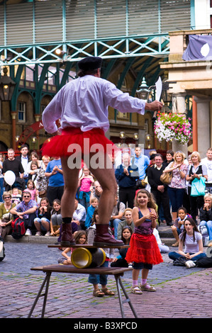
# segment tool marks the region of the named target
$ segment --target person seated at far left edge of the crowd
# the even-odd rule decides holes
[[[6,235],[11,233],[11,222],[13,220],[13,215],[11,215],[11,208],[16,206],[16,203],[11,202],[11,193],[4,192],[2,196],[4,203],[0,205],[0,237],[5,238]]]

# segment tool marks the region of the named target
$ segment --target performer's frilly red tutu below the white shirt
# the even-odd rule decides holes
[[[98,152],[113,154],[117,147],[111,140],[108,140],[104,135],[104,130],[100,128],[86,132],[82,132],[80,128],[65,128],[61,135],[55,135],[44,142],[42,154],[50,157],[70,156],[76,153],[77,149],[82,154],[96,152],[95,149],[98,149]]]

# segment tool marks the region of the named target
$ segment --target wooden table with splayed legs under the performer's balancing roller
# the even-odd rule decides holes
[[[131,268],[121,268],[121,267],[95,267],[93,269],[87,268],[87,269],[77,269],[74,266],[71,265],[49,265],[49,266],[38,266],[31,268],[32,271],[43,271],[45,273],[45,278],[43,280],[42,285],[40,286],[40,290],[38,291],[38,295],[35,298],[35,301],[33,303],[33,306],[30,309],[30,312],[28,314],[28,318],[31,317],[33,310],[35,308],[35,305],[38,303],[38,299],[42,296],[44,296],[43,299],[43,308],[42,308],[42,314],[41,318],[44,317],[45,313],[45,305],[48,298],[48,287],[50,283],[50,276],[52,272],[56,273],[82,273],[82,274],[103,274],[103,275],[113,275],[116,279],[116,287],[118,291],[118,300],[119,305],[121,309],[121,316],[122,318],[125,318],[124,311],[123,311],[123,304],[128,303],[130,306],[130,309],[133,312],[133,315],[135,318],[137,318],[136,312],[133,308],[133,305],[130,302],[130,298],[128,298],[128,294],[126,293],[126,290],[123,286],[123,283],[121,281],[121,276],[123,276],[123,273],[125,271],[131,271]],[[42,294],[42,290],[45,287],[45,293]],[[125,300],[122,299],[121,296],[121,289],[123,290],[123,294],[125,295]]]

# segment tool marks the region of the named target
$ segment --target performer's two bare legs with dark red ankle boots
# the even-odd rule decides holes
[[[90,154],[90,158],[94,154]],[[117,185],[114,170],[112,168],[106,168],[106,157],[102,157],[105,162],[105,168],[95,169],[89,166],[92,174],[99,181],[102,187],[101,198],[99,201],[99,225],[96,225],[96,237],[94,242],[96,246],[101,246],[103,243],[106,245],[123,245],[123,242],[111,237],[108,234],[108,224],[111,219],[111,213],[113,211],[114,198],[116,196]],[[65,190],[61,201],[61,213],[62,213],[62,246],[70,246],[74,244],[74,239],[71,235],[71,225],[69,222],[72,220],[74,213],[74,198],[77,193],[78,180],[79,180],[79,169],[70,169],[67,164],[68,157],[61,157],[62,171],[65,181]],[[69,226],[67,226],[69,224]],[[67,235],[69,234],[69,235]]]

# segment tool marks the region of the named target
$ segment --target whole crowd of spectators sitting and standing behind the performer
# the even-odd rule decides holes
[[[62,222],[60,200],[64,191],[60,157],[50,159],[43,156],[40,159],[36,152],[29,155],[27,145],[22,145],[20,152],[15,157],[14,150],[8,149],[5,159],[0,154],[0,235],[2,238],[9,235],[11,221],[18,217],[25,222],[25,235],[57,236]],[[182,152],[172,150],[167,151],[165,158],[156,151],[150,152],[150,157],[147,157],[140,147],[135,147],[132,151],[124,152],[118,162],[113,159],[113,168],[118,193],[114,198],[110,227],[115,238],[121,239],[123,227],[134,229],[131,211],[135,193],[139,188],[146,188],[157,204],[158,225],[165,223],[172,227],[176,239],[174,246],[178,245],[179,234],[183,230],[183,221],[179,215],[182,208],[196,225],[201,221],[205,236],[211,240],[212,148],[201,159],[199,152],[193,152],[186,158]],[[6,171],[15,174],[12,186],[4,180]],[[172,172],[172,181],[163,184],[160,176],[167,172]],[[206,180],[209,199],[203,195],[191,196],[192,181],[200,177]],[[94,179],[84,165],[79,176],[72,219],[75,230],[89,230],[101,191],[99,181]]]

